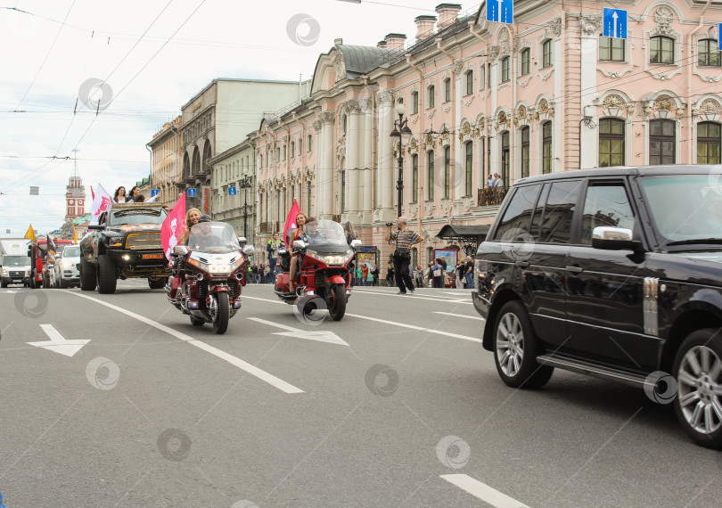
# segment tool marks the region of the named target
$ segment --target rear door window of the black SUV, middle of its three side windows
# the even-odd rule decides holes
[[[538,235],[532,232],[532,236],[543,243],[570,243],[571,221],[580,188],[580,180],[554,182],[546,198],[540,231]]]

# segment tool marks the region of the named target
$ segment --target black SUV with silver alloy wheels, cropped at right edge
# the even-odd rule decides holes
[[[625,382],[722,448],[722,166],[521,179],[474,278],[507,385],[542,386],[554,367]]]

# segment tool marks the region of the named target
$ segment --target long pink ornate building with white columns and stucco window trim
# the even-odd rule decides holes
[[[599,2],[517,1],[513,25],[486,5],[415,19],[414,40],[375,47],[335,41],[310,97],[262,121],[258,239],[283,229],[292,199],[318,217],[350,220],[385,261],[384,223],[397,217],[403,104],[403,214],[423,234],[426,263],[444,225],[486,225],[523,176],[618,165],[720,162],[722,4],[618,0],[628,39],[602,36]],[[279,225],[279,222],[281,223]],[[385,265],[385,263],[384,263]],[[381,266],[381,264],[380,264]]]

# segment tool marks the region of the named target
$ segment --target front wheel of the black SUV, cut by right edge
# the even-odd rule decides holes
[[[690,333],[677,351],[673,373],[677,419],[695,443],[722,448],[722,338],[706,328]]]

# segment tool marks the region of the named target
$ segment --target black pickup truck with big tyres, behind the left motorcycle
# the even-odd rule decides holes
[[[142,277],[151,289],[165,286],[170,275],[160,244],[162,204],[116,204],[80,241],[80,289],[111,294],[118,279]]]

